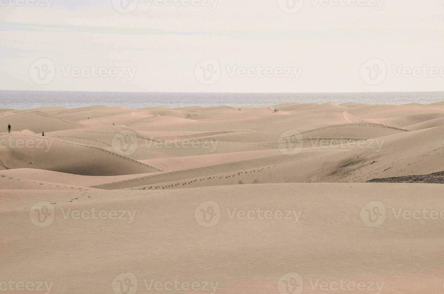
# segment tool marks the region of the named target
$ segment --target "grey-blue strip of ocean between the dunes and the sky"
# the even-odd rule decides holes
[[[259,107],[284,102],[336,104],[359,102],[367,104],[435,103],[444,101],[444,92],[385,93],[136,93],[136,92],[56,92],[0,90],[0,108],[32,109],[43,106],[70,108],[105,105],[143,108],[166,106]]]

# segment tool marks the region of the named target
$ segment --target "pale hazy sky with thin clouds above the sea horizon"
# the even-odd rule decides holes
[[[443,52],[443,0],[0,0],[1,90],[443,91]]]

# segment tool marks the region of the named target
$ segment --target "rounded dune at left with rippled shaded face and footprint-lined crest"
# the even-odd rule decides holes
[[[0,169],[47,169],[87,176],[117,176],[159,169],[105,149],[24,134],[3,135]]]

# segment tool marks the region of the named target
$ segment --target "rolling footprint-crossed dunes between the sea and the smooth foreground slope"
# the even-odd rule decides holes
[[[444,108],[439,105],[284,103],[241,111],[229,106],[90,106],[4,112],[10,115],[0,121],[11,123],[13,132],[0,133],[0,166],[66,174],[46,179],[50,176],[41,173],[31,180],[107,189],[185,188],[178,186],[364,182],[442,169]],[[15,148],[7,144],[11,139],[43,140],[44,148]],[[292,150],[296,154],[288,156]],[[255,170],[268,173],[250,176]],[[77,175],[110,177],[82,184]],[[123,175],[129,177],[112,178]]]

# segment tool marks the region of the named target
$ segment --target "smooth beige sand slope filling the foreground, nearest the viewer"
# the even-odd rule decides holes
[[[265,184],[125,194],[4,190],[0,276],[46,281],[51,293],[73,294],[125,293],[120,283],[135,290],[136,282],[137,292],[129,293],[282,294],[284,281],[299,276],[303,292],[294,293],[338,293],[320,290],[319,283],[334,289],[342,280],[370,289],[347,293],[438,294],[444,279],[443,220],[397,219],[396,214],[400,208],[442,211],[443,187]],[[37,221],[36,213],[43,212],[33,207],[37,201],[48,202],[48,221]],[[216,208],[214,222],[202,219],[207,201]],[[377,227],[369,226],[374,223],[366,210],[373,201],[386,213],[376,219]],[[160,290],[146,288],[151,279]],[[177,281],[178,290],[164,290],[171,289],[168,281]],[[199,290],[181,290],[183,282],[194,282]]]

